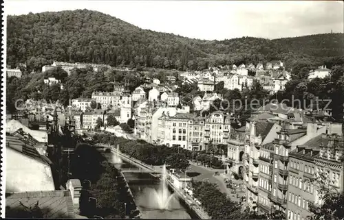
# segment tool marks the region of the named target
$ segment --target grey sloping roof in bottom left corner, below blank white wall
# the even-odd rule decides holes
[[[69,191],[36,191],[23,193],[6,193],[6,209],[22,209],[38,206],[44,218],[73,218],[74,206]]]

